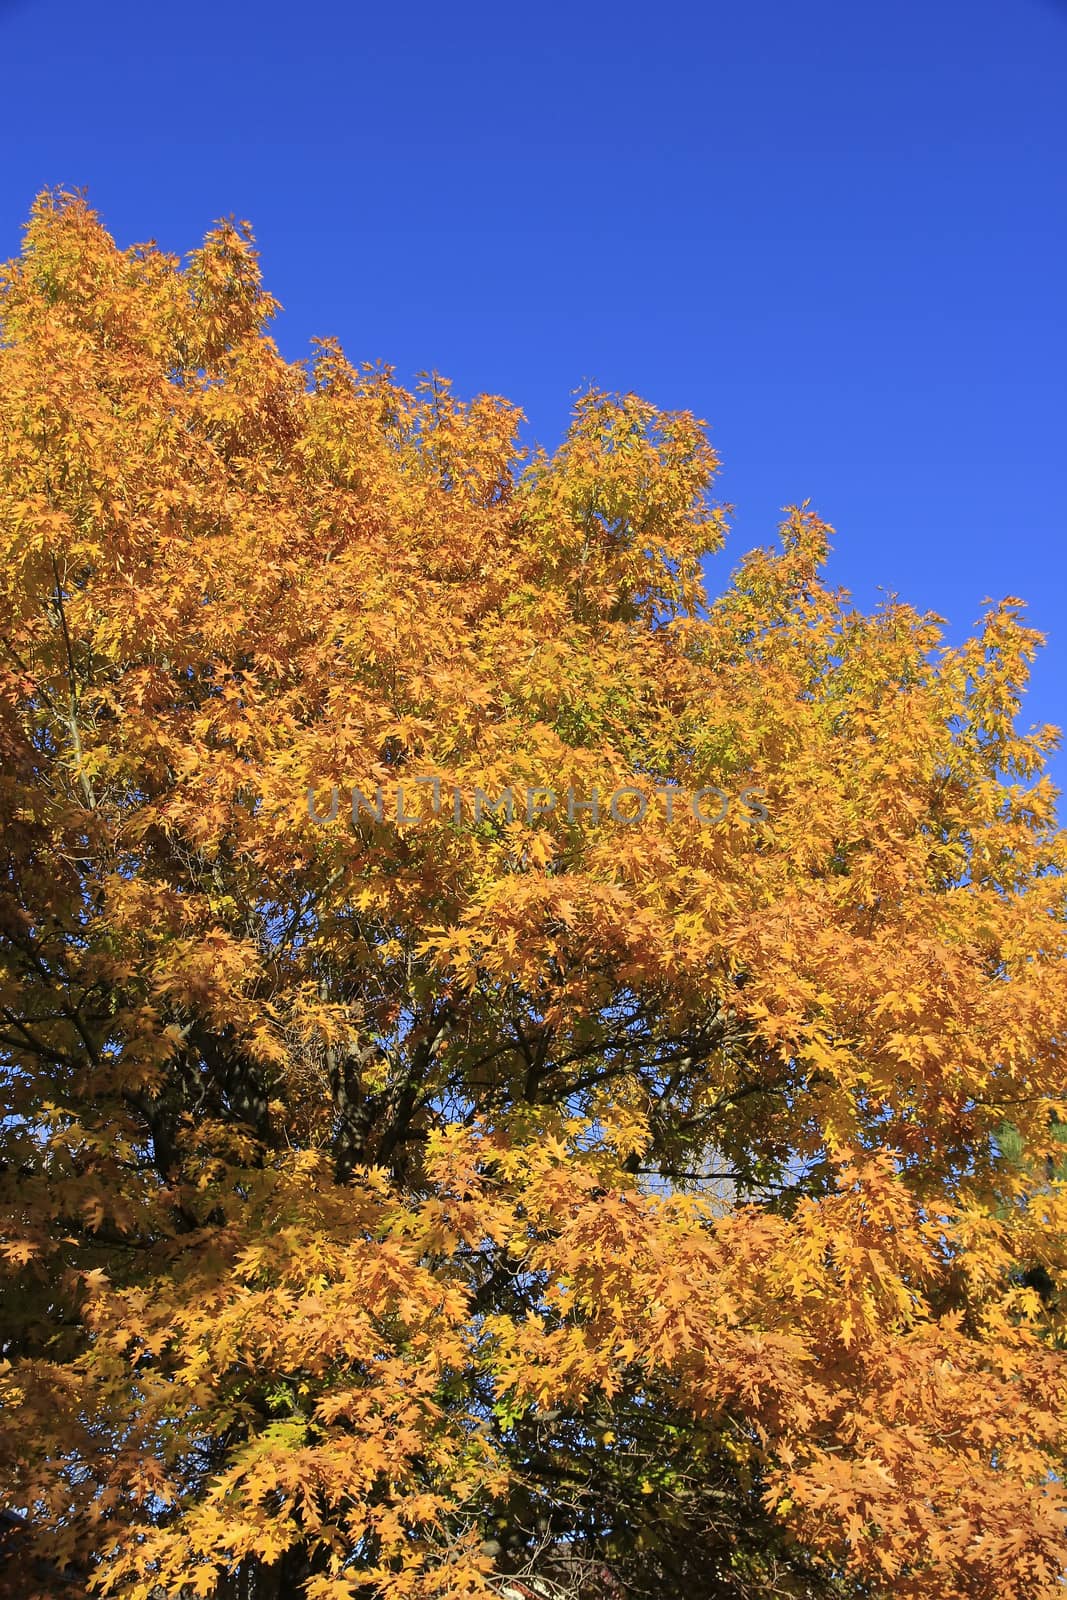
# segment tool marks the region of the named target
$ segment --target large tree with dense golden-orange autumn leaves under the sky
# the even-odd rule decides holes
[[[274,310],[66,195],[3,278],[11,1592],[1061,1595],[1019,603],[861,614],[803,507],[709,598],[691,416],[523,454]],[[309,816],[416,778],[648,805]]]

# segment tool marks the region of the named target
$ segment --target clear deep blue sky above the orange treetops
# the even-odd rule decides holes
[[[809,496],[862,605],[1027,598],[1067,723],[1067,3],[0,0],[0,254],[51,184],[123,245],[237,214],[290,357],[545,445],[585,379],[689,408],[723,566]]]

